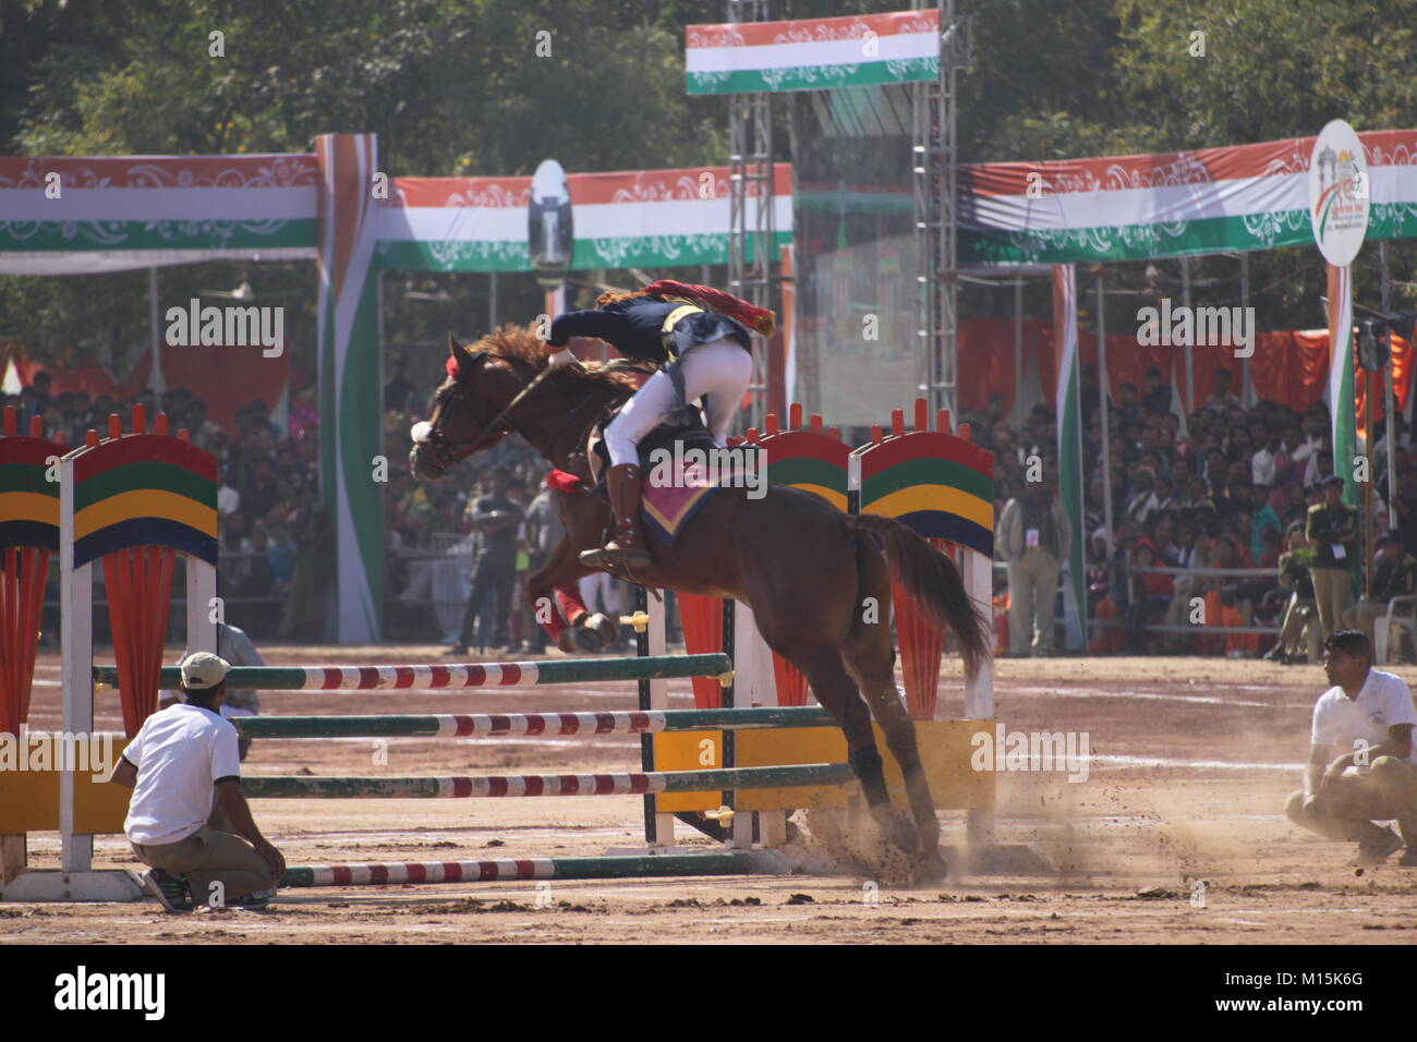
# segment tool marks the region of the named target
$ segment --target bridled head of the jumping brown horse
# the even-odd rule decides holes
[[[526,384],[514,364],[486,350],[469,352],[448,335],[448,379],[434,394],[434,414],[414,424],[408,465],[419,481],[436,481],[473,452],[510,434],[503,410]]]

